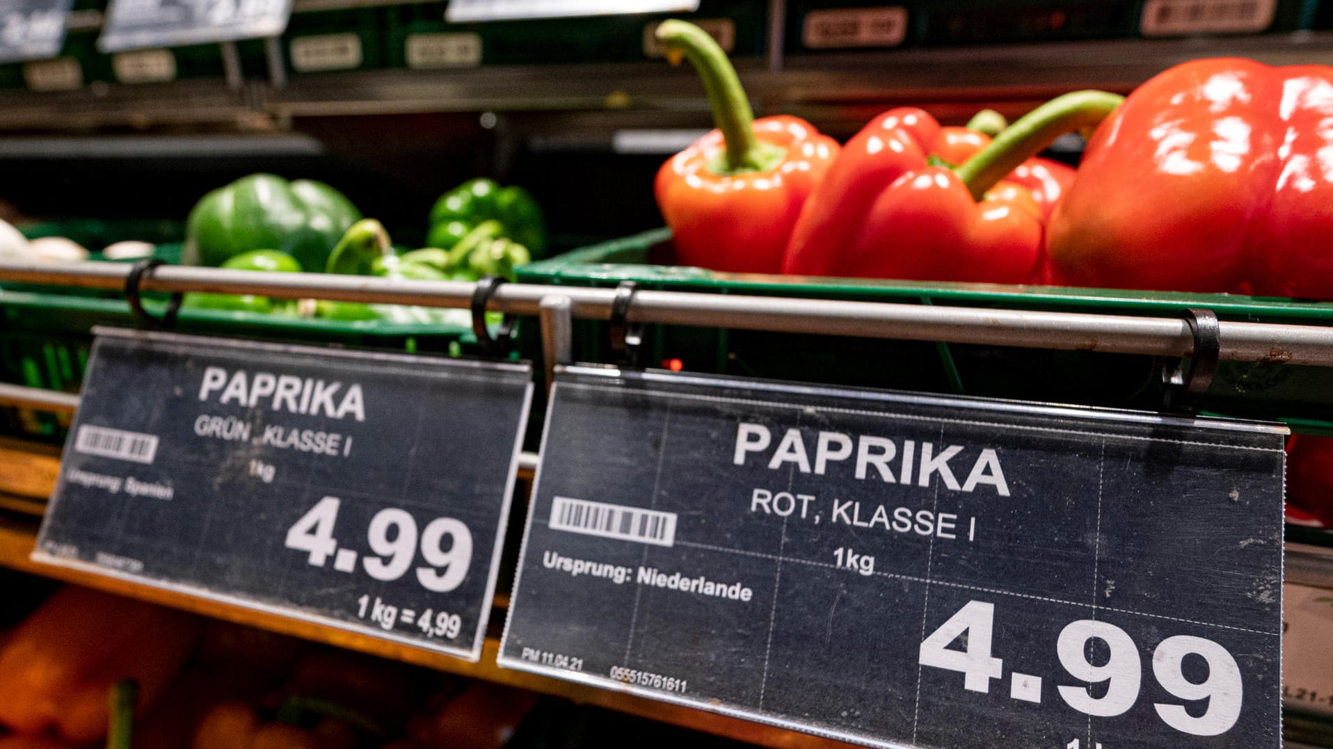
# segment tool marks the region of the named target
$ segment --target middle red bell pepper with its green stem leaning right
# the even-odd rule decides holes
[[[885,112],[842,148],[805,204],[782,271],[1041,281],[1044,219],[1070,177],[1062,165],[1032,156],[1060,135],[1101,121],[1120,101],[1098,91],[1069,93],[989,144],[980,133],[941,128],[920,109]],[[932,165],[932,157],[962,164]],[[1021,175],[1012,175],[1017,168]]]

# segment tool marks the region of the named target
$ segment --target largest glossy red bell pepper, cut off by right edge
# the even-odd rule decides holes
[[[1050,221],[1056,279],[1333,299],[1333,67],[1170,68],[1097,128]]]

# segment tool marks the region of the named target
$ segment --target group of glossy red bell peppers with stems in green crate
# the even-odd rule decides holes
[[[657,175],[682,264],[1333,299],[1328,67],[1197,60],[1128,99],[1057,97],[993,140],[897,108],[838,149],[800,120],[752,125],[716,43],[657,33],[701,71],[718,127]],[[788,135],[757,139],[764,123]],[[1037,157],[1066,132],[1092,133],[1077,172]]]

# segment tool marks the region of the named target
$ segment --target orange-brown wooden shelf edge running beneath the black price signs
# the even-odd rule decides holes
[[[481,653],[481,661],[469,664],[441,653],[421,650],[400,642],[368,637],[355,632],[291,620],[279,614],[235,606],[220,601],[196,598],[193,596],[176,593],[173,590],[164,590],[151,585],[103,577],[63,566],[39,564],[29,558],[35,544],[36,528],[33,525],[17,522],[0,524],[0,566],[7,566],[19,572],[59,580],[63,582],[85,585],[88,588],[96,588],[117,596],[125,596],[140,601],[181,609],[211,618],[267,629],[280,634],[289,634],[312,642],[321,642],[383,658],[427,666],[447,673],[480,678],[543,694],[564,697],[585,705],[620,710],[623,713],[702,730],[738,741],[772,746],[773,749],[838,749],[852,746],[850,744],[794,733],[729,716],[706,713],[632,694],[608,692],[595,686],[500,668],[496,665],[500,638],[495,636],[487,637]],[[497,617],[492,617],[492,625],[496,624],[496,618]]]

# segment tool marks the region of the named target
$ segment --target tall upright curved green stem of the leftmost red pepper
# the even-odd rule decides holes
[[[726,52],[708,32],[688,21],[668,20],[657,25],[657,40],[666,47],[669,59],[678,63],[684,55],[704,81],[704,92],[713,108],[713,124],[726,141],[726,172],[750,172],[768,167],[766,149],[754,137],[754,111]]]

